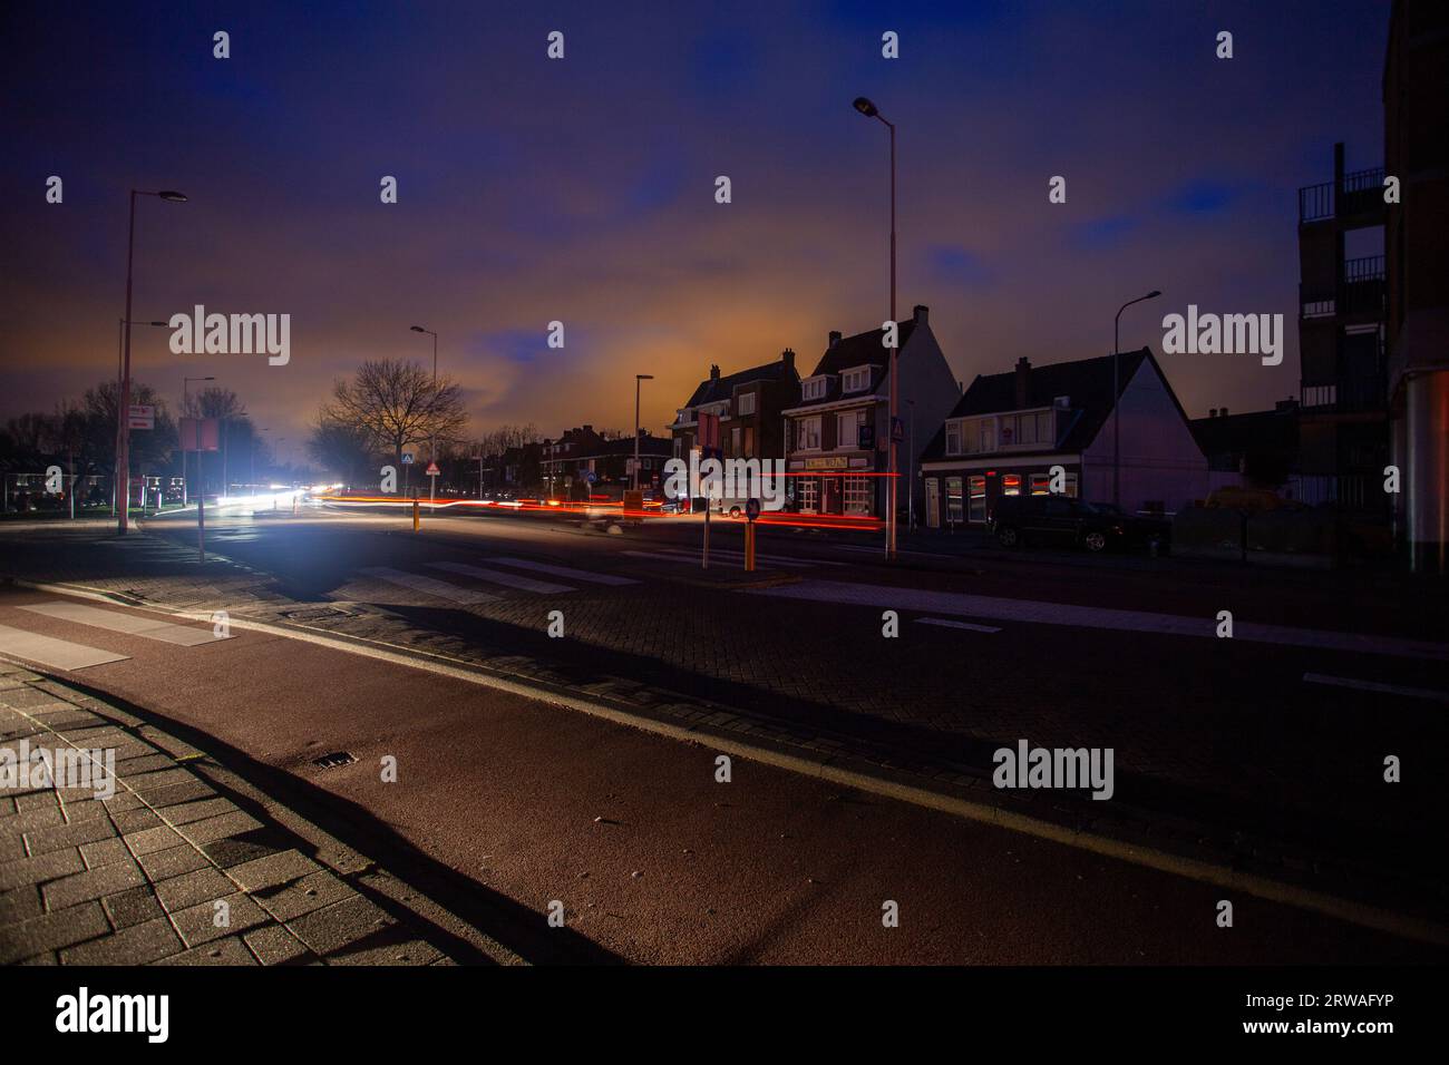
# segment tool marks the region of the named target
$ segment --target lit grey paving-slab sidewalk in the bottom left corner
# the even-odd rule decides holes
[[[188,769],[201,752],[0,661],[0,749],[38,748],[113,751],[114,794],[0,778],[0,964],[448,964]]]

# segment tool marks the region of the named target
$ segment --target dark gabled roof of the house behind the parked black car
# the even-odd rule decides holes
[[[978,374],[971,387],[962,393],[961,400],[946,416],[946,420],[971,417],[974,414],[1000,414],[1010,410],[1051,407],[1058,396],[1065,396],[1068,397],[1068,409],[1075,417],[1069,419],[1062,439],[1056,440],[1053,446],[1040,448],[1040,451],[1084,451],[1097,439],[1097,432],[1106,423],[1108,414],[1111,414],[1113,407],[1116,407],[1117,397],[1143,362],[1151,362],[1164,383],[1166,381],[1166,375],[1162,374],[1162,368],[1158,367],[1158,361],[1152,356],[1149,348],[1124,351],[1117,358],[1120,362],[1117,365],[1116,394],[1111,391],[1111,355],[1078,359],[1075,362],[1052,362],[1045,367],[1030,367],[1027,371],[1024,404],[1016,401],[1016,369],[1009,369],[1004,374]],[[1178,414],[1185,423],[1187,413],[1182,410],[1182,404],[1178,403],[1171,385],[1168,385],[1168,394],[1172,396],[1172,403],[1177,404]],[[1032,452],[1011,451],[1006,454],[1029,455]],[[930,445],[922,454],[922,461],[932,462],[949,458],[961,456],[946,455],[946,426],[942,425],[932,438]]]

